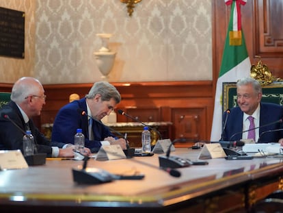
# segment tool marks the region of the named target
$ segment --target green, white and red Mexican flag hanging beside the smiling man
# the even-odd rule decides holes
[[[215,91],[211,141],[220,140],[222,133],[222,83],[237,82],[242,77],[250,76],[251,68],[250,58],[245,47],[245,38],[241,30],[240,7],[245,5],[247,0],[225,0],[225,2],[226,5],[232,4],[232,8]]]

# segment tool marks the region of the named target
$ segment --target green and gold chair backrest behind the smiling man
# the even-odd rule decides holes
[[[222,112],[237,106],[236,82],[224,82],[222,95]],[[283,82],[262,86],[261,101],[283,105]]]

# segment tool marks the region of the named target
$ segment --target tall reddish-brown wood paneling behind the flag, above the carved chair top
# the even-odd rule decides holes
[[[221,66],[230,19],[230,6],[222,0],[213,5],[213,89]],[[249,0],[241,6],[241,24],[252,64],[259,55],[275,77],[283,78],[283,0]]]

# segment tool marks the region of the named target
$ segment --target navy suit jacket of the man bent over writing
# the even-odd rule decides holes
[[[94,140],[89,140],[87,115],[82,115],[81,111],[87,112],[85,98],[78,101],[72,101],[59,110],[55,117],[52,129],[52,140],[64,143],[74,143],[74,136],[77,129],[83,130],[85,136],[85,147],[92,152],[97,152],[101,147],[101,142],[111,134],[109,128],[102,123],[93,120],[92,131]]]

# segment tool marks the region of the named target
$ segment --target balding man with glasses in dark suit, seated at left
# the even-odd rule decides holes
[[[21,149],[23,152],[23,131],[30,129],[38,153],[46,153],[47,157],[74,156],[72,145],[50,142],[33,124],[31,118],[40,115],[45,99],[44,89],[38,79],[18,79],[12,88],[10,103],[0,109],[0,149]],[[87,154],[90,154],[89,149],[85,149],[85,155]]]

